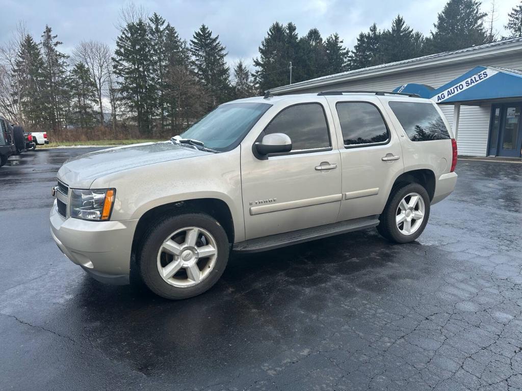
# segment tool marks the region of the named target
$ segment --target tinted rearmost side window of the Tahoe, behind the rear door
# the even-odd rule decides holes
[[[440,114],[431,103],[389,102],[390,108],[411,141],[449,139]]]

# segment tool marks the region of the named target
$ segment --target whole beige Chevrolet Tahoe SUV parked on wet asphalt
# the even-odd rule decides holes
[[[139,275],[169,299],[217,282],[230,251],[377,227],[411,242],[456,184],[433,102],[325,92],[218,106],[170,141],[88,153],[58,171],[51,232],[104,282]],[[349,237],[339,246],[349,246]]]

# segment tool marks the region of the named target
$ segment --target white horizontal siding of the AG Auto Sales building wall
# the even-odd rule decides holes
[[[458,65],[441,66],[436,69],[417,69],[400,72],[395,75],[339,82],[335,85],[316,87],[299,92],[319,92],[325,90],[393,91],[399,85],[406,83],[427,84],[438,88],[479,65],[522,70],[522,56],[491,56],[490,58],[482,58],[474,62],[463,62]],[[441,105],[441,109],[449,124],[453,127],[453,105]],[[460,155],[487,155],[490,110],[491,105],[489,104],[460,107],[457,134]]]

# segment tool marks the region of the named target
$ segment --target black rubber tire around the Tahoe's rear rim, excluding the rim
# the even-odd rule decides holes
[[[419,196],[421,196],[422,201],[424,202],[424,217],[420,226],[416,231],[414,231],[414,233],[405,235],[399,230],[399,227],[396,224],[396,217],[398,214],[397,210],[399,208],[399,203],[409,193],[417,193]],[[428,196],[426,189],[417,183],[399,185],[394,187],[388,198],[388,202],[386,203],[384,211],[379,217],[380,223],[377,226],[377,230],[379,234],[390,241],[396,243],[409,243],[416,240],[422,234],[426,224],[428,224],[429,217],[430,197]]]

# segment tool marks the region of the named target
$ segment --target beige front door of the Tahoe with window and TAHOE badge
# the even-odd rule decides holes
[[[318,102],[283,108],[259,135],[285,133],[292,150],[254,156],[241,144],[246,239],[334,223],[341,203],[341,161],[331,114]],[[327,114],[328,113],[328,114]]]

